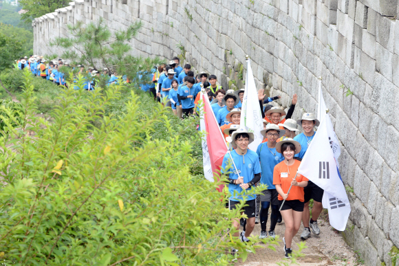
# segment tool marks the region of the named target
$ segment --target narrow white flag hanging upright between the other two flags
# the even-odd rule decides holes
[[[259,106],[258,92],[255,86],[255,79],[252,74],[250,60],[247,60],[248,67],[246,73],[246,83],[244,99],[241,107],[240,128],[246,129],[248,132],[254,133],[254,141],[248,145],[251,151],[256,151],[259,144],[263,141],[263,118],[261,107]]]

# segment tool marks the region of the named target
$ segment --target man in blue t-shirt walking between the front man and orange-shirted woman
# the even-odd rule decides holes
[[[276,186],[273,185],[273,171],[274,166],[277,166],[284,160],[281,153],[276,151],[276,143],[279,137],[284,135],[285,131],[280,129],[277,124],[268,124],[266,130],[261,131],[263,137],[268,138],[268,142],[261,143],[257,148],[257,155],[261,162],[261,184],[268,186],[267,190],[263,190],[261,195],[261,235],[259,239],[268,237],[266,232],[266,223],[268,223],[269,207],[272,206],[272,214],[270,215],[270,230],[269,236],[274,239],[276,234],[274,228],[276,228],[277,220],[279,219],[279,192],[276,190]]]

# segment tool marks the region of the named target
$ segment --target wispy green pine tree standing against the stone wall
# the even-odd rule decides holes
[[[62,47],[64,52],[61,57],[76,64],[100,70],[106,67],[120,76],[126,75],[129,80],[136,80],[141,72],[151,73],[154,65],[162,63],[159,58],[143,59],[131,55],[129,41],[140,27],[142,23],[136,21],[126,30],[112,34],[103,19],[89,23],[87,27],[78,21],[75,25],[68,25],[70,37],[56,38],[50,45]]]

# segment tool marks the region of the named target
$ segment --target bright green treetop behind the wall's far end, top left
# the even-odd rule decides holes
[[[66,0],[19,0],[22,9],[26,10],[22,14],[22,19],[27,22],[47,13],[54,12],[58,8],[63,8],[68,3],[69,1]]]

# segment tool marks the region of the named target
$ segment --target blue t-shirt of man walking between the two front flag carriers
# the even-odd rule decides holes
[[[263,142],[258,146],[257,155],[261,162],[261,184],[267,185],[268,189],[276,189],[276,186],[273,185],[274,166],[283,162],[283,155],[277,153],[275,147],[269,148],[268,142]]]

